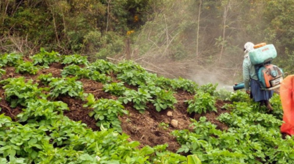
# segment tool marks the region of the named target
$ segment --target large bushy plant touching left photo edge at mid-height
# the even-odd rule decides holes
[[[24,77],[9,78],[1,81],[0,84],[4,85],[5,100],[10,102],[11,107],[16,107],[18,104],[26,106],[28,102],[34,102],[39,97],[46,98],[42,94],[44,88],[38,88],[38,84],[33,84],[33,80],[25,82]]]

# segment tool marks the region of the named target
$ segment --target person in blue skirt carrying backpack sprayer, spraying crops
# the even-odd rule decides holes
[[[235,84],[234,90],[243,89],[260,106],[266,105],[269,111],[272,110],[270,98],[273,89],[280,87],[284,73],[282,69],[271,64],[277,56],[275,47],[272,44],[260,43],[254,45],[246,42],[244,45],[243,80]]]

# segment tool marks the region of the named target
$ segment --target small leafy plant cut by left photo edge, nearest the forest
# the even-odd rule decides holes
[[[0,67],[2,66],[17,66],[23,62],[23,55],[17,53],[3,54],[0,56]]]

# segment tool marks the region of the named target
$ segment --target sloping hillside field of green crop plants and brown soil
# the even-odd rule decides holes
[[[196,154],[203,164],[294,163],[278,95],[269,114],[243,92],[45,50],[2,54],[0,66],[2,161],[183,164]]]

